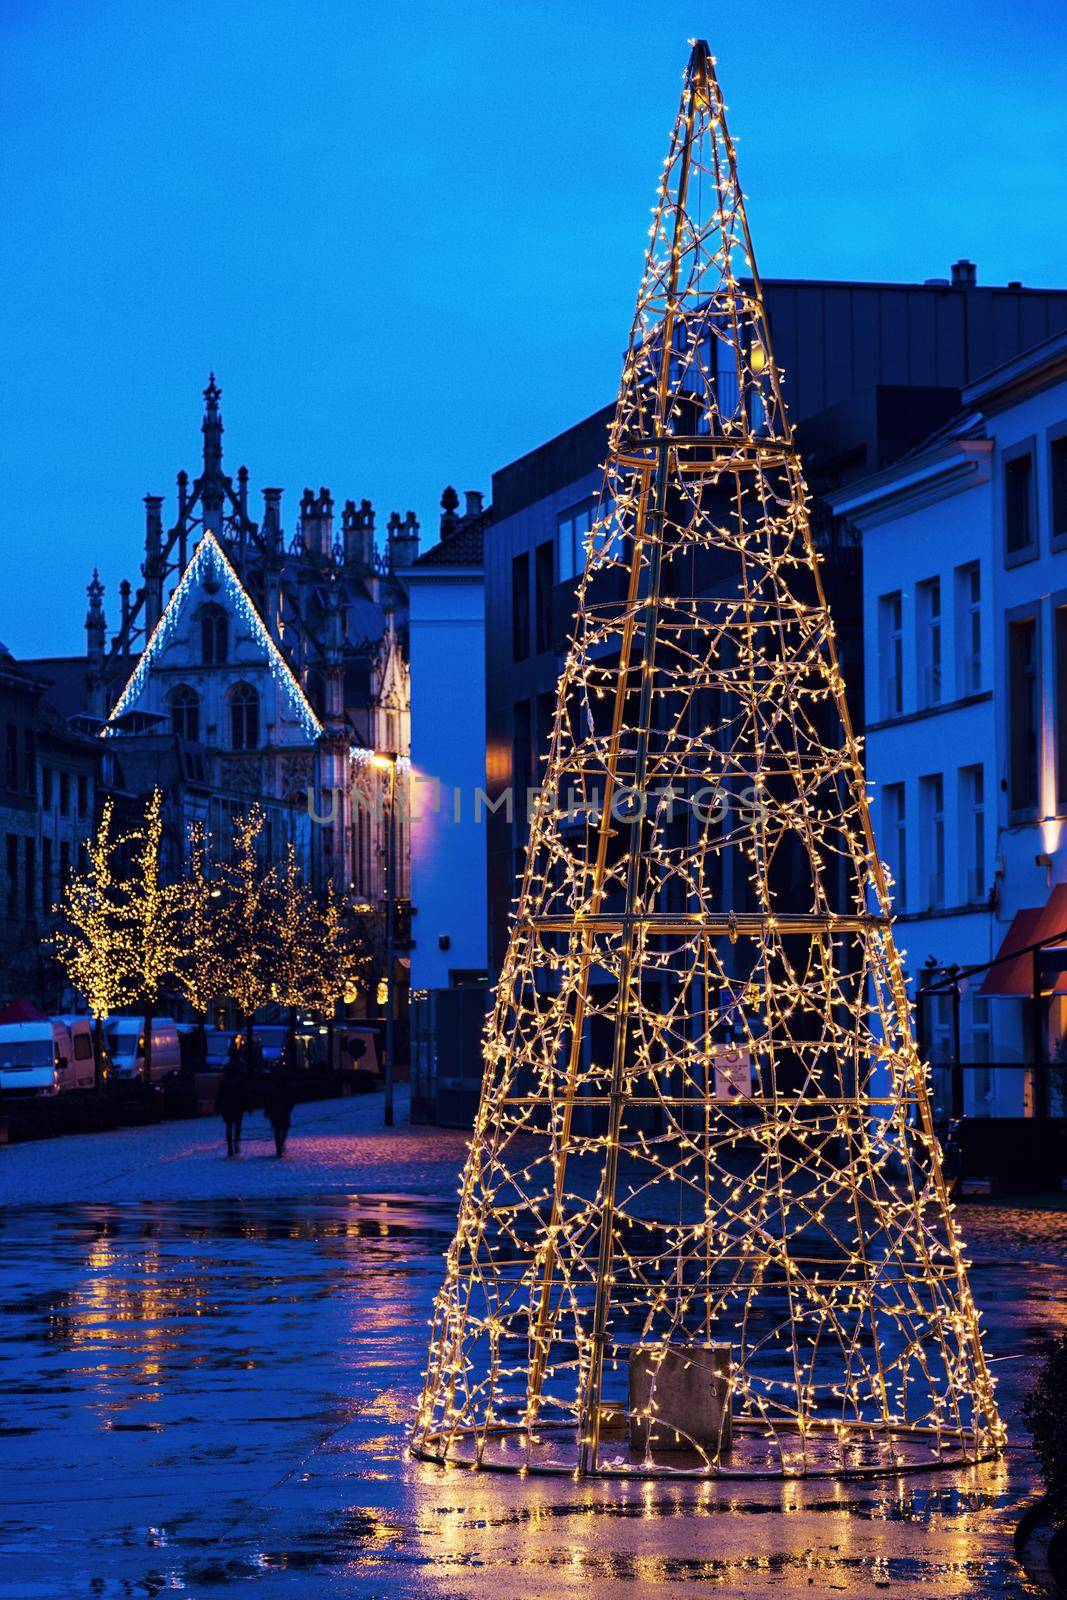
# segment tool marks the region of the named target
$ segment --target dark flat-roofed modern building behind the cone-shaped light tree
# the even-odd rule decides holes
[[[849,701],[862,726],[862,592],[856,531],[824,494],[877,472],[945,422],[960,390],[1067,328],[1067,291],[984,286],[971,262],[926,283],[763,283],[774,357],[814,494]],[[613,406],[493,475],[485,544],[486,787],[498,800],[536,782],[574,611]],[[707,592],[715,574],[707,573]],[[525,806],[486,826],[490,971],[499,970]],[[729,886],[725,886],[729,893]]]

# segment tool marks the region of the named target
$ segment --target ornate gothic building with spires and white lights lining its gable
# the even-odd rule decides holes
[[[250,803],[272,854],[288,842],[315,883],[384,894],[389,763],[397,762],[397,890],[408,883],[411,741],[408,608],[398,578],[419,554],[413,512],[394,512],[384,552],[370,501],[334,526],[328,490],[306,490],[291,534],[278,488],[250,512],[248,472],[222,464],[221,390],[203,392],[203,458],[178,475],[176,517],[146,496],[142,581],[120,586],[109,638],[104,587],[88,586],[82,662],[37,661],[72,725],[102,736],[118,795],[165,792],[174,861],[203,821],[226,851]]]

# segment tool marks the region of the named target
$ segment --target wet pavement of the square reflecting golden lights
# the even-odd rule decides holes
[[[1016,1414],[1067,1211],[963,1214],[1005,1461],[883,1483],[579,1485],[406,1458],[461,1134],[381,1101],[0,1150],[0,1600],[1025,1595]]]

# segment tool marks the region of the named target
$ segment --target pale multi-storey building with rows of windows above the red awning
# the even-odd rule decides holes
[[[1067,336],[963,405],[833,506],[862,530],[873,824],[912,994],[936,986],[937,1106],[1029,1117],[1061,1109],[1059,1075],[1014,1064],[1056,1054],[1067,986],[1038,957],[1035,1021],[1033,957],[998,957],[1067,930]],[[984,963],[957,1000],[945,970]]]

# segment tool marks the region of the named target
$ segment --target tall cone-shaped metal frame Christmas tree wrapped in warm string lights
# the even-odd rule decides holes
[[[697,43],[414,1448],[792,1475],[1000,1442]]]

